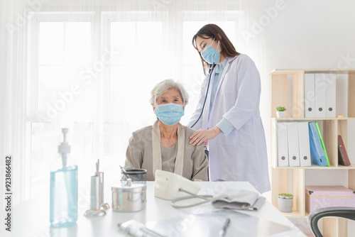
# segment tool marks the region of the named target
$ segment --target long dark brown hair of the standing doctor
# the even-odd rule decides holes
[[[215,40],[219,40],[220,47],[221,47],[221,54],[223,54],[225,57],[235,57],[236,55],[240,55],[240,53],[236,52],[234,45],[231,43],[231,40],[229,40],[229,38],[226,37],[226,33],[224,33],[224,31],[217,25],[214,24],[205,25],[202,28],[200,28],[200,31],[197,31],[197,33],[194,35],[194,37],[192,38],[192,45],[198,52],[197,45],[196,45],[197,36],[204,39],[216,38]],[[204,75],[207,75],[209,72],[209,65],[207,62],[204,62],[200,52],[199,54],[202,62]]]

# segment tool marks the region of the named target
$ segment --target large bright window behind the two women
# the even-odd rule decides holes
[[[26,139],[31,196],[49,185],[63,127],[69,128],[80,183],[89,185],[98,158],[105,178],[119,180],[131,133],[155,121],[150,92],[163,79],[178,80],[189,92],[181,121],[187,123],[204,79],[192,35],[207,17],[233,42],[238,31],[236,11],[224,12],[225,21],[210,16],[203,11],[33,14]]]

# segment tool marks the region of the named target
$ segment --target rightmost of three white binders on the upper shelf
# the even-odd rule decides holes
[[[335,109],[336,109],[336,101],[335,101],[335,94],[337,91],[337,81],[336,81],[337,75],[334,73],[329,73],[326,74],[325,80],[327,82],[327,88],[325,91],[325,116],[327,118],[335,118]]]

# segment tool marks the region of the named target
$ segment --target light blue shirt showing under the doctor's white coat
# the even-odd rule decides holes
[[[221,79],[224,67],[226,67],[226,62],[228,61],[228,57],[223,60],[223,62],[220,65],[216,65],[214,67],[214,81],[212,85],[212,92],[211,92],[211,101],[209,103],[209,115],[211,114],[212,106],[214,99],[216,98],[216,92],[217,92],[217,87],[219,84],[219,79]],[[223,118],[222,121],[217,123],[217,127],[221,129],[222,133],[227,136],[231,131],[233,131],[234,126],[226,120],[226,118]]]

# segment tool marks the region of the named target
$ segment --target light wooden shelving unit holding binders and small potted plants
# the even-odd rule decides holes
[[[344,118],[305,118],[305,73],[335,73],[347,77],[348,96]],[[336,95],[339,97],[339,94]],[[276,118],[276,107],[285,106],[286,118]],[[348,121],[355,120],[355,69],[351,70],[273,70],[271,72],[271,160],[272,160],[272,203],[278,207],[278,194],[294,194],[293,211],[288,217],[307,217],[305,211],[305,170],[344,170],[347,172],[347,186],[355,190],[355,164],[338,165],[337,135],[341,135],[347,150]],[[291,121],[318,121],[327,149],[330,167],[278,167],[277,123]],[[354,158],[350,160],[354,162]],[[342,171],[343,172],[343,171]],[[324,236],[347,236],[345,219],[329,218],[323,221]]]

